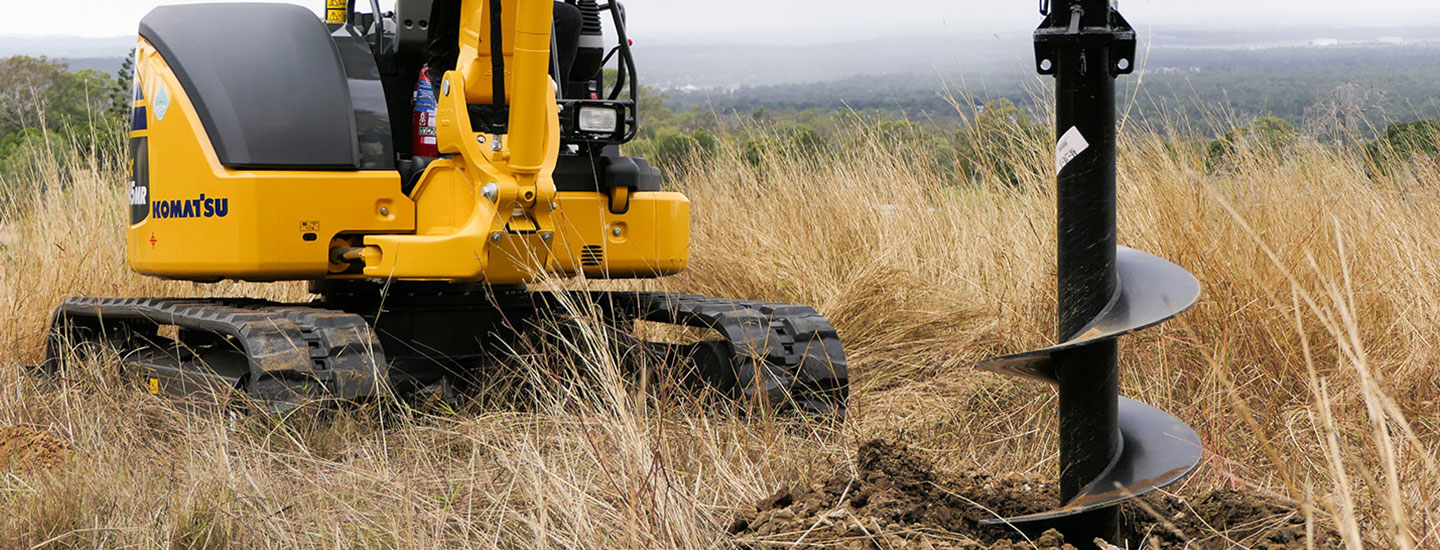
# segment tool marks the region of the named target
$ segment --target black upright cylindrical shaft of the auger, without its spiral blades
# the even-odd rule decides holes
[[[1057,341],[1074,338],[1102,314],[1116,291],[1115,272],[1115,65],[1107,0],[1071,0],[1050,14],[1064,35],[1056,43]],[[1130,60],[1126,60],[1129,65]],[[1080,151],[1084,148],[1084,151]],[[1081,154],[1083,153],[1083,154]],[[1073,157],[1071,157],[1073,155]],[[1068,158],[1067,158],[1068,157]],[[1117,455],[1120,441],[1116,340],[1057,359],[1060,393],[1060,498],[1070,501]],[[1117,507],[1067,518],[1068,540],[1117,540]]]

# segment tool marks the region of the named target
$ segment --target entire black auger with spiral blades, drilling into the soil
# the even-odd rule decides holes
[[[1054,384],[1060,393],[1056,510],[991,520],[1025,533],[1060,528],[1090,547],[1119,540],[1119,504],[1174,484],[1200,464],[1189,426],[1120,397],[1117,341],[1188,310],[1200,282],[1185,269],[1116,245],[1115,79],[1135,71],[1135,30],[1109,0],[1061,0],[1035,30],[1035,65],[1056,76],[1057,346],[986,360],[981,369]]]

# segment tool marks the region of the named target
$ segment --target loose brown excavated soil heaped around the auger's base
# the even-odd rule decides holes
[[[750,549],[1073,550],[1056,531],[1027,541],[1014,530],[979,526],[1056,502],[1048,482],[942,475],[904,445],[874,441],[860,448],[857,475],[844,472],[804,492],[782,490],[734,518],[730,533]],[[1293,505],[1236,491],[1151,495],[1126,505],[1122,524],[1132,549],[1339,547],[1335,531],[1313,524],[1308,546],[1305,514]]]

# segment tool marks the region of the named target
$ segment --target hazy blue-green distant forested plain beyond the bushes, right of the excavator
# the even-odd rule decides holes
[[[1302,134],[1355,144],[1395,120],[1440,118],[1440,48],[1277,48],[1266,50],[1166,50],[1120,81],[1123,112],[1132,122],[1179,121],[1192,132],[1220,137],[1236,121],[1274,117]],[[858,75],[736,89],[668,91],[675,111],[701,108],[744,115],[808,109],[881,111],[910,120],[955,120],[996,99],[1025,111],[1050,101],[1030,68],[956,75]],[[969,96],[984,91],[982,96]],[[1240,122],[1244,124],[1244,122]]]

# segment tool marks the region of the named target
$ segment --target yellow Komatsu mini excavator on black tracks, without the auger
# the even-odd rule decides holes
[[[639,91],[624,6],[454,0],[458,22],[445,23],[435,1],[446,0],[390,12],[372,0],[360,13],[327,0],[324,19],[258,3],[151,12],[135,50],[130,266],[311,281],[320,298],[71,298],[55,312],[48,369],[98,344],[156,395],[274,407],[454,396],[577,298],[527,285],[685,269],[688,200],[619,148],[636,134]],[[564,36],[562,9],[580,23]],[[435,71],[436,33],[456,50],[454,69]],[[431,88],[426,63],[432,132],[413,117],[428,102],[416,92]],[[809,307],[579,298],[625,357],[678,357],[742,403],[844,416],[844,350]],[[647,343],[636,321],[713,337]]]

